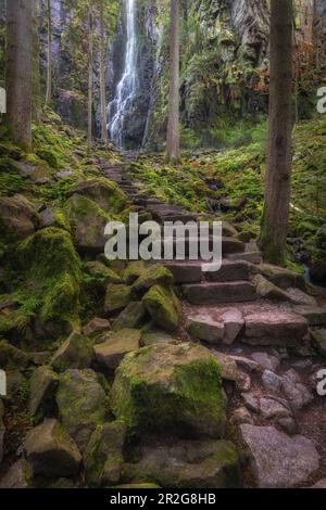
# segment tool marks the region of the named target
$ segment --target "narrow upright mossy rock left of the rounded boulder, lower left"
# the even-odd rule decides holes
[[[29,380],[28,410],[33,417],[43,417],[55,407],[59,375],[49,367],[34,370]]]

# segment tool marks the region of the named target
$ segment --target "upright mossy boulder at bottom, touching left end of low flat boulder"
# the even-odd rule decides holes
[[[126,428],[114,421],[98,425],[84,455],[86,481],[90,486],[110,486],[121,480]]]

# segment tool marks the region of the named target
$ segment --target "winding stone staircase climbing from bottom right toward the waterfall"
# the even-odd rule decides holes
[[[139,214],[150,213],[161,224],[200,219],[180,206],[162,203],[145,192],[141,183],[131,182],[128,165],[126,160],[123,165],[103,165],[103,169]],[[206,240],[210,246],[213,240],[211,232]],[[262,275],[262,255],[255,243],[241,242],[228,224],[223,224],[223,263],[218,271],[203,271],[202,260],[189,258],[189,237],[181,242],[186,259],[163,259],[181,298],[179,333],[183,339],[187,335],[203,343],[218,359],[226,393],[236,395],[229,403],[229,421],[238,426],[251,450],[258,485],[267,486],[262,482],[265,476],[273,479],[273,486],[284,486],[285,480],[287,486],[316,482],[324,486],[325,405],[311,384],[322,359],[312,356],[309,342],[312,329],[326,327],[326,310],[316,304],[300,307],[259,295],[254,279]],[[177,242],[172,243],[175,252]],[[236,394],[229,385],[236,387]],[[312,426],[311,416],[323,432]],[[309,447],[308,452],[300,442]],[[267,473],[260,468],[264,464],[268,466]],[[284,464],[292,467],[288,477]]]

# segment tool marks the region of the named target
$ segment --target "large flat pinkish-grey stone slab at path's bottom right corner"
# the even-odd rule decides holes
[[[319,467],[318,452],[306,437],[289,437],[274,426],[243,424],[240,431],[260,488],[293,487]]]

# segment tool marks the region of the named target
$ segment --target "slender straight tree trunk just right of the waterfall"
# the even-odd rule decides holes
[[[167,162],[179,161],[179,0],[171,0]]]

